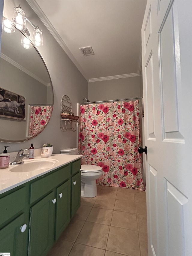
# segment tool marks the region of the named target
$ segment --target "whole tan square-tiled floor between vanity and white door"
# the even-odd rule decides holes
[[[148,256],[146,192],[98,186],[47,256]]]

